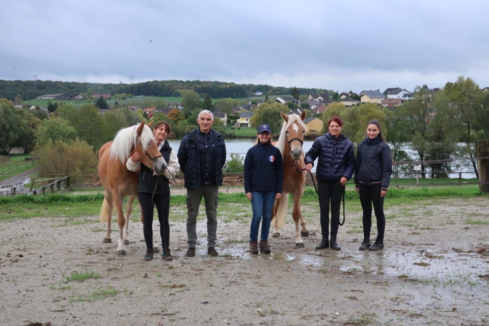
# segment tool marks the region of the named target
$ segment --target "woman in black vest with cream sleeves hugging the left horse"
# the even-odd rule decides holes
[[[153,133],[158,144],[159,152],[165,158],[168,168],[163,175],[153,175],[153,171],[140,164],[139,153],[135,152],[127,160],[126,167],[131,171],[139,173],[138,200],[143,213],[143,234],[146,242],[146,255],[144,260],[153,259],[153,207],[156,206],[159,220],[159,233],[163,247],[161,257],[165,260],[173,260],[170,254],[170,224],[168,215],[170,213],[170,179],[180,170],[178,158],[168,142],[165,140],[170,134],[170,125],[165,121],[156,123]]]

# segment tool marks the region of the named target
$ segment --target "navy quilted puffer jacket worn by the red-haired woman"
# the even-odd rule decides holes
[[[341,177],[349,180],[355,171],[353,144],[342,133],[338,138],[334,138],[329,132],[316,138],[306,153],[304,162],[314,166],[316,158],[316,179],[319,181],[338,181]]]

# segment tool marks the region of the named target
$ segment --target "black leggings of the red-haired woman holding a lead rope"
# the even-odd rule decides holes
[[[331,203],[331,237],[336,238],[340,225],[341,185],[339,181],[317,181],[319,197],[321,234],[323,240],[328,240]]]

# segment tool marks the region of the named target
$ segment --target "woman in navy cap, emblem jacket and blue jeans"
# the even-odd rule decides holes
[[[250,253],[258,254],[258,229],[261,224],[260,250],[270,253],[268,233],[271,210],[282,196],[284,167],[282,153],[271,145],[271,130],[267,124],[258,126],[255,146],[244,158],[244,193],[251,200],[253,219],[250,228]],[[262,219],[263,217],[263,219]]]

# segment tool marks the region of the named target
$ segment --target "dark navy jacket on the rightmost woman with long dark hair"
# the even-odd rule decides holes
[[[387,191],[392,174],[391,148],[380,137],[365,138],[358,145],[355,184],[381,184]]]

